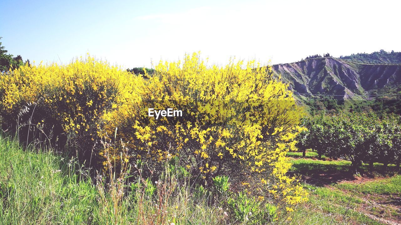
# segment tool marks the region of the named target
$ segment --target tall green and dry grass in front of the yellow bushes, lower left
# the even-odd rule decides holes
[[[93,181],[89,172],[51,149],[25,151],[0,136],[0,225],[230,223],[223,209],[195,198],[174,173],[157,184],[126,185],[126,175],[113,172],[106,185],[104,176]]]

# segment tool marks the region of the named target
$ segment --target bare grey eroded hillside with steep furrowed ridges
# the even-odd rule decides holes
[[[362,100],[356,95],[401,86],[401,65],[395,64],[363,64],[324,57],[276,64],[273,70],[295,92],[336,95],[338,100]]]

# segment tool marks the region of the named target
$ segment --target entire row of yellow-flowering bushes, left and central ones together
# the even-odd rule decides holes
[[[208,67],[193,54],[160,62],[145,75],[90,56],[66,66],[25,65],[1,77],[0,115],[8,127],[20,118],[43,134],[53,132],[49,141],[69,138],[83,159],[100,138],[121,139],[124,147],[95,148],[100,164],[105,155],[133,165],[140,159],[157,174],[174,158],[205,186],[227,175],[233,189],[260,201],[307,199],[296,178],[286,175],[286,153],[303,130],[301,110],[270,66],[240,61]],[[148,108],[182,110],[182,117],[148,117]],[[120,149],[128,150],[124,159]]]

